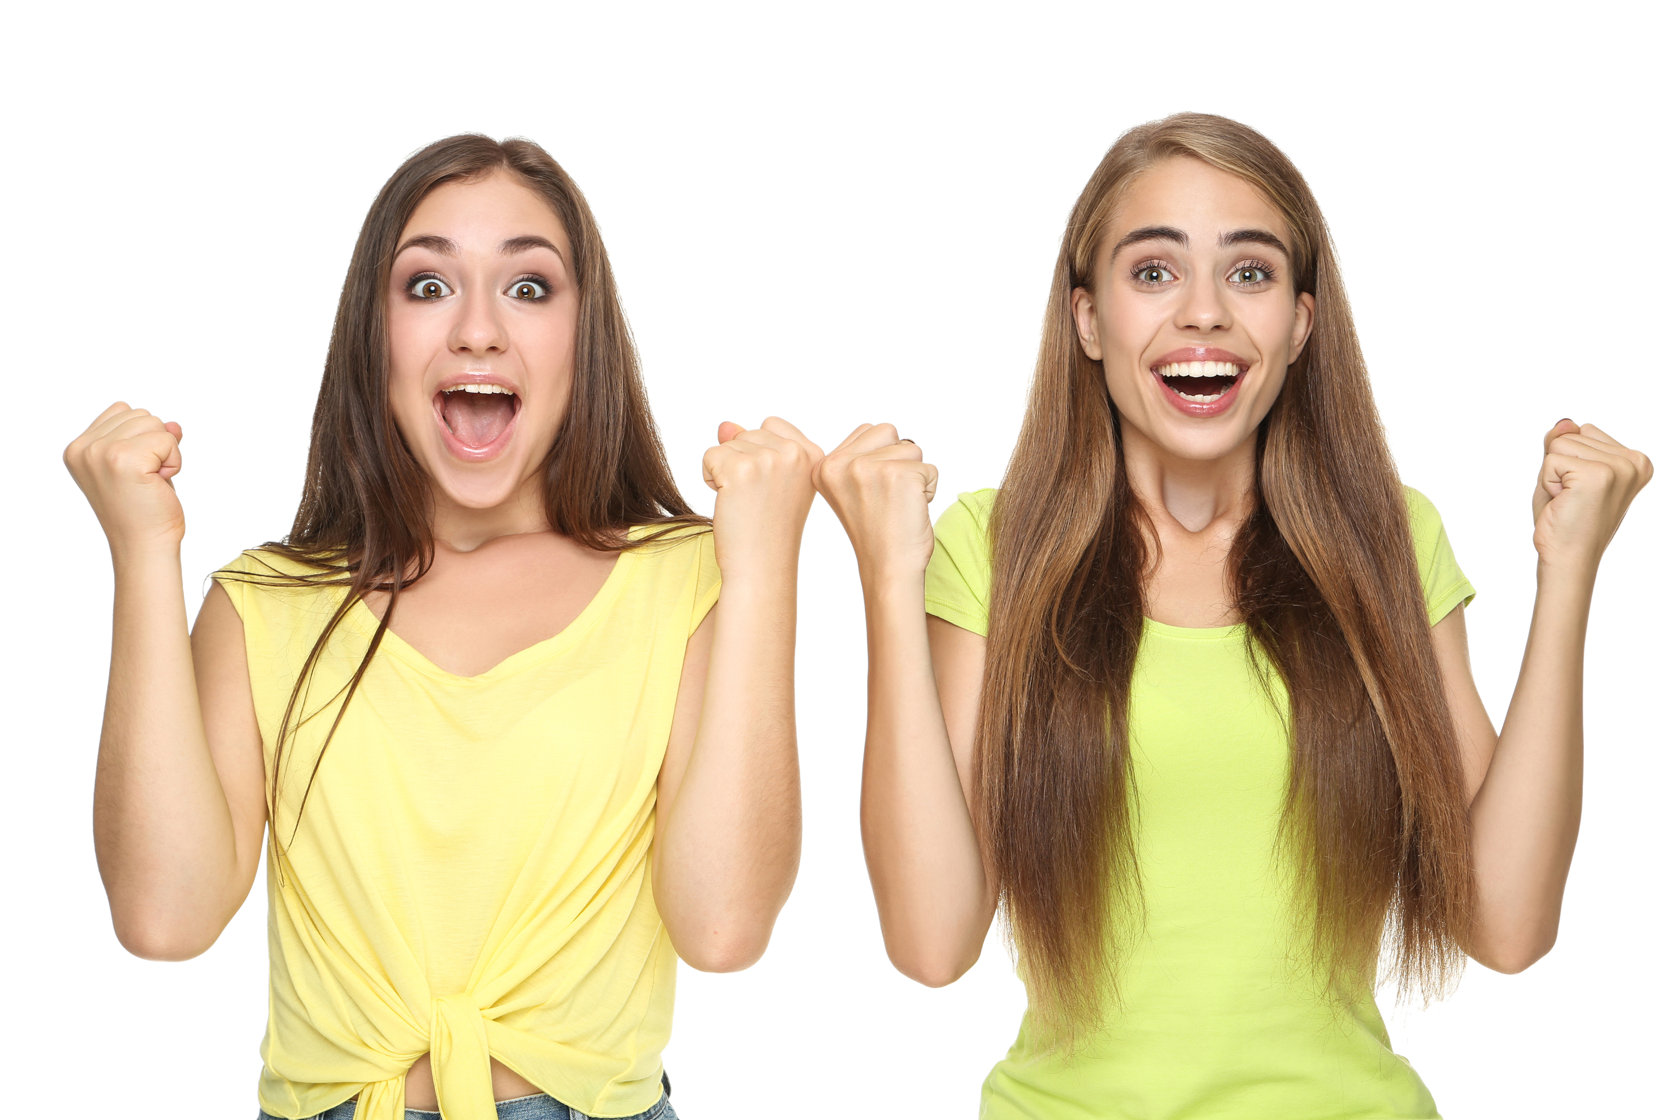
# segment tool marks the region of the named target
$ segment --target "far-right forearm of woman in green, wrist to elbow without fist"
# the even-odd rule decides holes
[[[1478,925],[1472,954],[1500,971],[1544,955],[1581,826],[1583,714],[1593,571],[1541,568],[1522,672],[1475,801]]]

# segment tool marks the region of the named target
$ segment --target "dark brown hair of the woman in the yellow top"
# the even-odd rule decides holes
[[[433,556],[430,482],[403,442],[390,406],[385,314],[398,238],[430,191],[492,171],[516,176],[554,208],[571,242],[576,270],[580,307],[571,396],[541,467],[549,527],[591,549],[618,551],[645,546],[682,526],[706,524],[682,500],[670,475],[642,388],[630,327],[618,306],[606,247],[578,185],[553,156],[528,139],[497,143],[489,136],[462,134],[412,154],[373,200],[349,259],[316,398],[304,494],[292,531],[284,541],[262,546],[307,571],[296,576],[274,568],[255,578],[222,573],[267,586],[346,588],[304,660],[276,735],[269,779],[269,828],[276,855],[284,848],[279,841],[279,806],[286,772],[282,754],[289,741],[296,741],[304,722],[319,719],[338,704],[309,766],[309,782],[297,804],[301,818],[321,756],[378,653],[403,586],[425,574]],[[627,529],[642,524],[660,524],[660,529],[632,542]],[[321,709],[306,714],[302,707],[311,675],[329,638],[370,591],[383,591],[390,598],[368,650],[353,677]],[[294,819],[292,833],[296,826]]]

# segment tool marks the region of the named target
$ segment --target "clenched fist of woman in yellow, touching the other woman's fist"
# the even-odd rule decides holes
[[[761,428],[717,425],[717,447],[706,452],[706,485],[717,490],[712,534],[717,568],[744,574],[759,563],[798,563],[800,534],[816,490],[811,470],[823,448],[780,416]]]

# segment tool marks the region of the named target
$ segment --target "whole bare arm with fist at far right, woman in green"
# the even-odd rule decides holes
[[[1651,467],[1593,428],[1559,423],[1536,490],[1541,554],[1529,643],[1494,725],[1470,677],[1463,611],[1433,631],[1465,757],[1478,910],[1465,950],[1520,972],[1557,939],[1564,882],[1581,828],[1586,621],[1598,563]]]

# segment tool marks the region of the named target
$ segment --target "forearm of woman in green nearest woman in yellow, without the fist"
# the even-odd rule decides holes
[[[951,751],[921,573],[869,578],[864,853],[887,954],[924,984],[974,964],[996,898]]]

